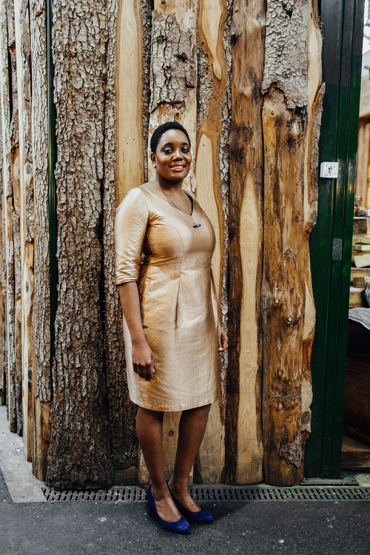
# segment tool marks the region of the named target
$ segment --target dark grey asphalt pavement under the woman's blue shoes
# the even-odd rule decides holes
[[[13,503],[0,472],[1,555],[370,554],[368,501],[205,502],[210,525],[161,528],[146,502]]]

